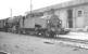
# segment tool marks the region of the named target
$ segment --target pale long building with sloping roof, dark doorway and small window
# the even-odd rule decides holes
[[[62,21],[63,28],[85,28],[88,26],[88,0],[68,1],[39,10],[34,12],[43,13],[43,16],[51,13],[54,9],[55,15]]]

